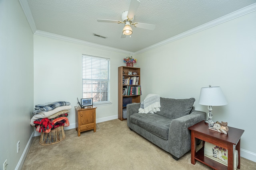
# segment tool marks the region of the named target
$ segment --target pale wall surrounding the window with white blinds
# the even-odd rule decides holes
[[[110,59],[112,104],[97,106],[96,123],[108,118],[117,119],[118,66],[124,66],[123,58],[127,54],[34,35],[34,105],[70,102],[70,128],[75,127],[74,106],[77,106],[77,98],[82,98],[82,54]]]

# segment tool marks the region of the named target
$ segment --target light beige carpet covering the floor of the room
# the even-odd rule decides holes
[[[211,170],[196,162],[190,152],[178,161],[119,119],[98,123],[96,132],[65,131],[66,138],[53,145],[40,145],[34,137],[22,170]],[[198,146],[198,149],[202,147]],[[256,162],[241,158],[241,170],[255,170]]]

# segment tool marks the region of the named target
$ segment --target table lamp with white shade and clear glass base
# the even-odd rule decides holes
[[[212,121],[212,106],[224,106],[228,104],[221,88],[218,86],[212,87],[211,85],[209,85],[209,87],[201,88],[198,103],[204,106],[208,106],[209,119],[205,122],[209,124],[214,124],[214,121]]]

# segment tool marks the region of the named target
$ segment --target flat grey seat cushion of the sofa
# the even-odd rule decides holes
[[[168,132],[172,119],[158,114],[135,113],[130,116],[130,122],[168,140]]]

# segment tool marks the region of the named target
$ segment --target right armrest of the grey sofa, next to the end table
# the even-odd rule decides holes
[[[191,131],[188,127],[202,120],[206,120],[206,112],[197,110],[172,120],[168,136],[170,153],[180,158],[191,149]]]

